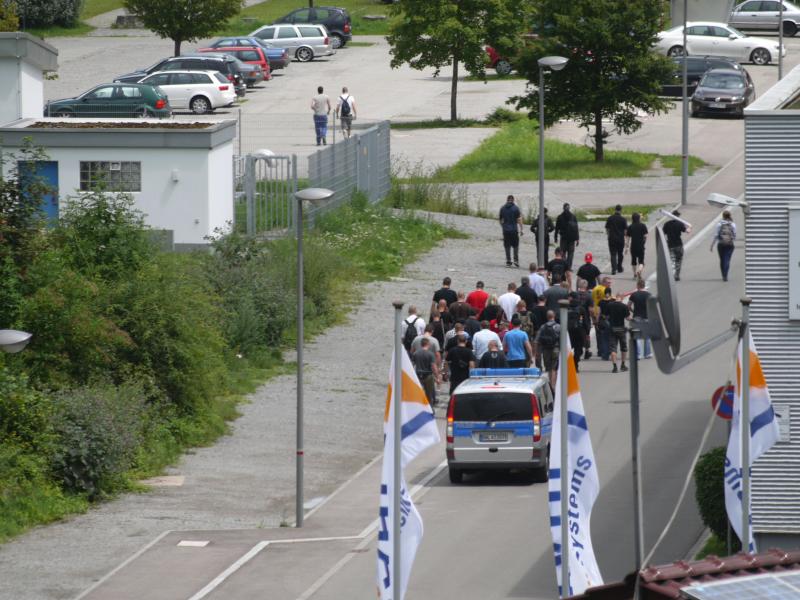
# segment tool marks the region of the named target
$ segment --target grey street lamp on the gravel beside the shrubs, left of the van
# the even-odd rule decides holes
[[[333,197],[335,192],[324,188],[306,188],[295,192],[297,212],[297,455],[295,527],[303,526],[303,202],[321,206]]]

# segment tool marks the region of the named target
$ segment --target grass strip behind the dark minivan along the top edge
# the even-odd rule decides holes
[[[111,1],[111,0],[95,0]],[[242,35],[253,31],[261,25],[272,23],[275,19],[296,8],[304,6],[298,0],[267,0],[245,8],[240,15],[233,17],[227,27],[220,29],[219,35]],[[364,15],[389,15],[389,8],[375,0],[340,0],[335,3],[340,8],[347,9],[350,13],[353,35],[385,35],[389,30],[389,19],[381,21],[367,21]],[[242,17],[248,19],[242,21]],[[250,20],[255,19],[255,20]]]

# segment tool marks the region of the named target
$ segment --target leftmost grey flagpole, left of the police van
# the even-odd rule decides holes
[[[400,406],[403,398],[403,344],[400,338],[403,303],[392,302],[394,306],[394,381],[392,382],[392,410],[394,411],[394,470],[392,472],[392,590],[393,598],[401,600],[403,590],[400,581],[400,560],[402,544],[400,543],[400,458],[402,451],[402,411]],[[409,327],[413,325],[409,324]]]

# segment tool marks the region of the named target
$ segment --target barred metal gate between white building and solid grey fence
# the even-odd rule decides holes
[[[234,226],[248,235],[281,236],[294,227],[297,157],[234,158]]]

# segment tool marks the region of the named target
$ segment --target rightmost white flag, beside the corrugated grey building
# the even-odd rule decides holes
[[[769,399],[767,380],[761,370],[761,361],[758,359],[753,336],[750,336],[750,460],[748,467],[758,460],[758,457],[769,450],[778,440],[780,432],[772,402]],[[736,394],[733,397],[733,422],[731,436],[728,438],[728,450],[725,453],[725,508],[731,527],[742,539],[742,449],[741,449],[741,411],[742,411],[742,341],[739,340],[739,350],[736,362]],[[747,507],[750,514],[750,507]],[[752,518],[752,516],[750,517]],[[745,542],[742,541],[744,548]],[[750,528],[750,539],[747,542],[750,552],[755,552],[753,528]]]

